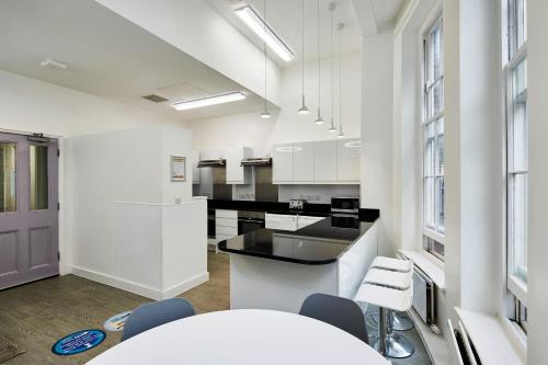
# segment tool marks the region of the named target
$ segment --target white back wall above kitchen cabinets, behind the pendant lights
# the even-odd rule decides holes
[[[336,60],[335,60],[336,61]],[[342,118],[347,137],[359,137],[362,104],[362,58],[359,53],[342,56]],[[224,150],[231,146],[267,147],[272,144],[324,140],[336,138],[327,132],[331,117],[330,60],[321,67],[321,111],[326,124],[313,124],[318,107],[318,64],[306,64],[306,103],[311,113],[297,114],[300,107],[301,71],[296,66],[282,75],[282,101],[279,110],[272,110],[271,119],[261,119],[260,111],[212,119],[189,122],[193,133],[193,146],[198,150]],[[335,126],[339,125],[338,73],[335,64]]]

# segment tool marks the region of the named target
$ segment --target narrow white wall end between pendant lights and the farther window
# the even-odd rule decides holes
[[[379,254],[392,255],[392,56],[393,34],[369,36],[362,64],[362,185],[364,208],[380,209]]]

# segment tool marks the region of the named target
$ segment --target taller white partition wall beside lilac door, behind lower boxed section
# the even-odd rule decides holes
[[[190,132],[134,128],[68,139],[72,210],[72,265],[112,272],[114,202],[162,204],[192,197],[192,180],[169,181],[170,155],[189,156]],[[168,144],[165,144],[168,141]],[[187,171],[190,171],[190,166]],[[205,219],[205,217],[204,217]]]

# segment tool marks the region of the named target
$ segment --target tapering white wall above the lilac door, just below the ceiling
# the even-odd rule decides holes
[[[182,121],[0,70],[0,128],[69,137]]]

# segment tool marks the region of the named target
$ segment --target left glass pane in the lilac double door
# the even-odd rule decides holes
[[[0,212],[15,212],[18,147],[12,142],[0,142]]]

